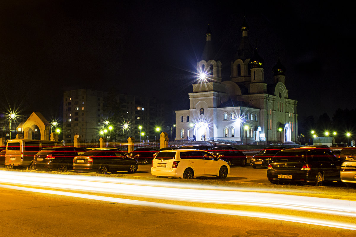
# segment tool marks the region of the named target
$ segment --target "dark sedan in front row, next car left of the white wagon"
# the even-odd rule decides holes
[[[98,172],[100,174],[116,171],[136,172],[138,162],[115,148],[96,148],[73,159],[73,169],[78,172]]]

